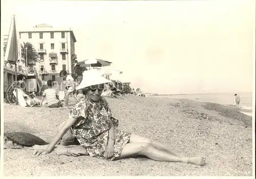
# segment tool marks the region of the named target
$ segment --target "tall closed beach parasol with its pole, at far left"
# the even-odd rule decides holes
[[[6,46],[6,54],[5,54],[5,61],[8,61],[15,65],[15,81],[17,81],[17,62],[19,62],[21,58],[21,49],[20,49],[20,40],[19,40],[19,33],[16,29],[16,19],[15,15],[12,16],[12,21],[10,25],[10,31]],[[17,88],[17,83],[16,83]],[[16,90],[16,96],[18,96],[17,90]],[[17,104],[18,104],[18,98]]]

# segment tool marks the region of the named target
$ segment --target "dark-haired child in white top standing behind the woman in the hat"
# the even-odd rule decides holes
[[[71,93],[73,93],[74,98],[76,100],[78,100],[77,99],[77,91],[75,89],[74,79],[73,79],[73,77],[70,74],[68,74],[68,72],[66,70],[61,70],[60,73],[59,73],[59,76],[61,78],[66,78],[66,89],[68,90],[68,92],[65,95],[65,97],[66,97],[65,104],[66,104],[66,106],[68,106],[69,95],[71,95]]]

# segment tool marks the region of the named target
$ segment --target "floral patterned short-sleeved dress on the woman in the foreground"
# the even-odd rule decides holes
[[[80,98],[72,109],[70,117],[77,118],[77,121],[72,129],[62,137],[62,140],[67,139],[67,135],[73,133],[80,145],[87,148],[91,157],[105,159],[104,154],[108,143],[110,120],[115,126],[114,156],[110,160],[119,157],[125,144],[130,140],[130,133],[117,129],[118,119],[112,117],[108,102],[103,97],[97,102],[86,97]]]

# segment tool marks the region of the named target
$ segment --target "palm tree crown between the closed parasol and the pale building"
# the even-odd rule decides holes
[[[26,47],[28,48],[27,53],[26,53]],[[25,61],[27,59],[27,54],[28,54],[28,62],[30,62],[30,61],[38,62],[38,53],[37,53],[36,49],[34,48],[34,46],[32,45],[32,43],[23,42],[23,44],[21,45],[21,48],[22,48],[22,58]]]

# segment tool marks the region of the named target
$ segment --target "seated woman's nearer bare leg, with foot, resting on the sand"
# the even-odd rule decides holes
[[[205,159],[203,158],[198,158],[198,157],[187,158],[187,157],[173,156],[171,154],[168,154],[165,151],[161,151],[154,148],[152,145],[148,143],[127,143],[124,146],[120,157],[117,158],[116,160],[135,157],[138,155],[143,155],[152,160],[161,161],[161,162],[184,162],[184,163],[191,163],[195,165],[205,164]]]

